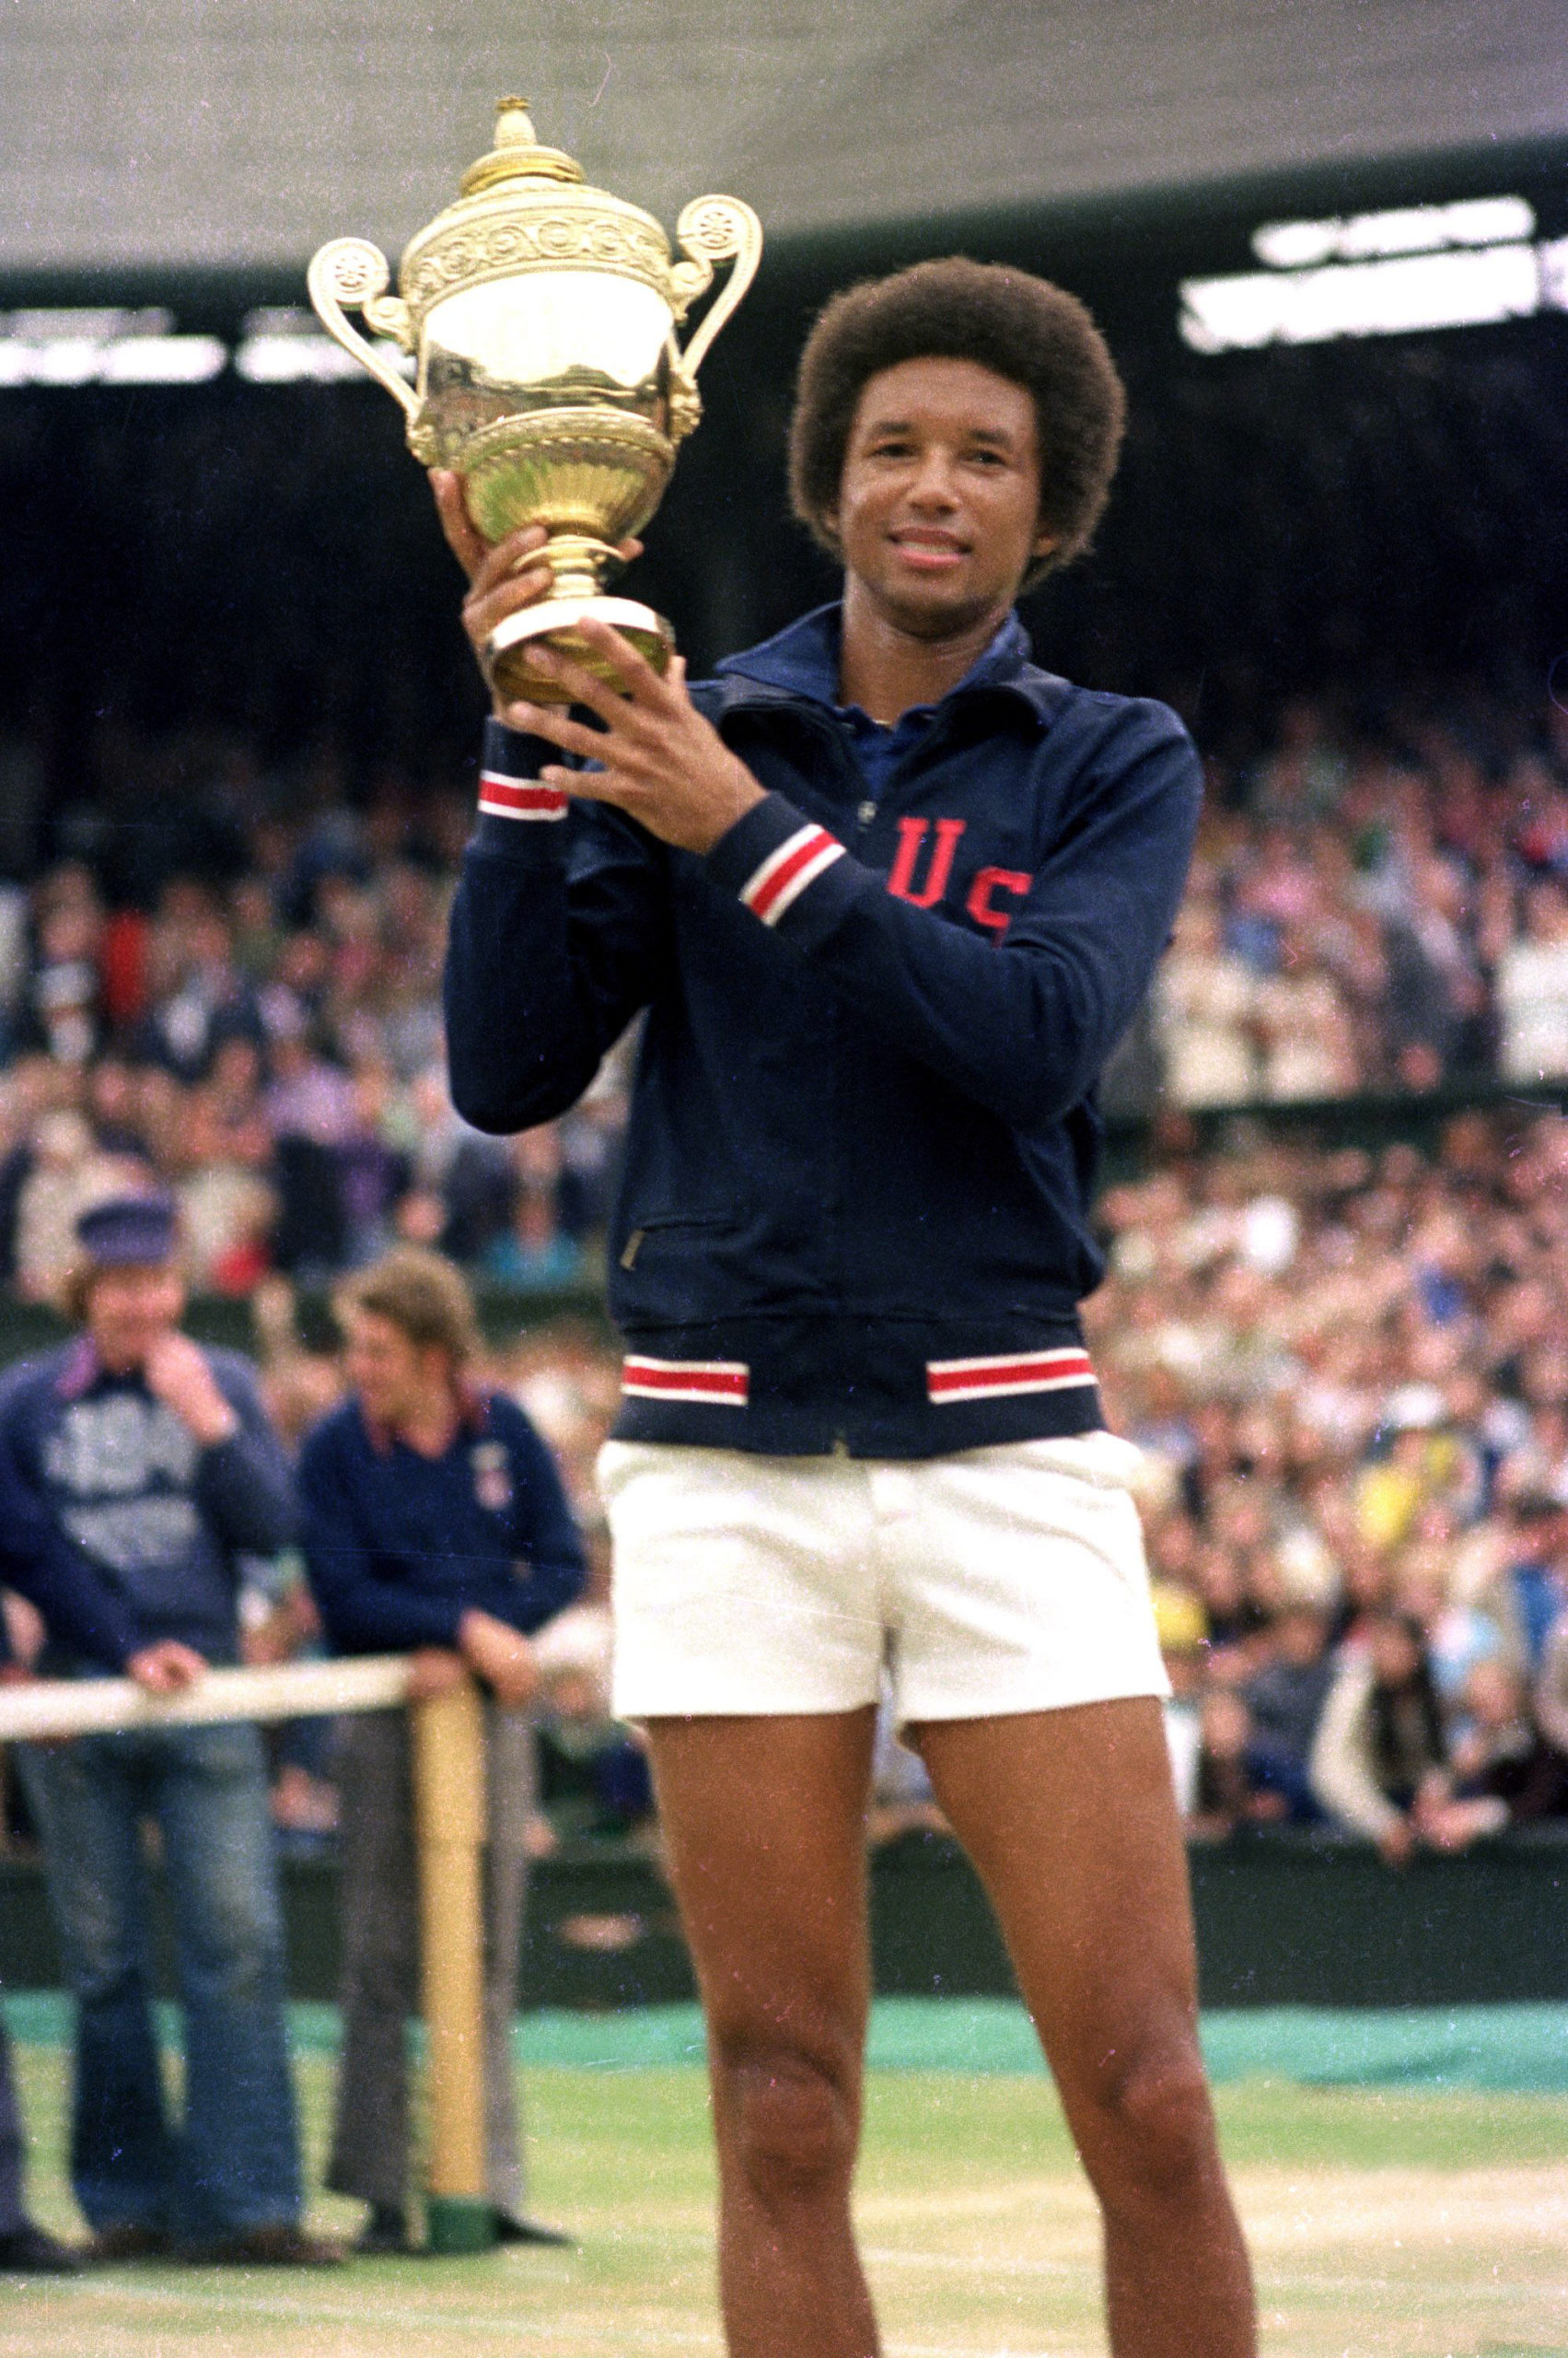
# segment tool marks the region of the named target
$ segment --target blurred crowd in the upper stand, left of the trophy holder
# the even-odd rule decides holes
[[[17,1295],[54,1297],[80,1205],[134,1174],[177,1193],[196,1292],[248,1295],[269,1271],[321,1285],[394,1240],[500,1287],[582,1273],[622,1075],[516,1141],[457,1120],[441,948],[462,835],[455,797],[389,788],[365,814],[233,818],[205,872],[174,868],[146,905],[116,905],[106,858],[0,887]]]

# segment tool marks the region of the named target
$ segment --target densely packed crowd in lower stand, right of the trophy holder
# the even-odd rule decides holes
[[[1174,1122],[1101,1214],[1193,1830],[1401,1860],[1568,1816],[1568,1120],[1431,1158]]]

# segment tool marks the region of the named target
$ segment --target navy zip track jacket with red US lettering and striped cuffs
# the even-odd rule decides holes
[[[1094,1085],[1181,898],[1193,745],[1037,670],[1016,618],[875,764],[835,710],[837,608],[719,674],[693,700],[766,799],[705,858],[540,785],[559,755],[490,722],[453,905],[479,1129],[564,1113],[648,1012],[615,1436],[934,1457],[1089,1431]]]

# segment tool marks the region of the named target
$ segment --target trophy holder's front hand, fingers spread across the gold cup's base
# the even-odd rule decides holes
[[[679,656],[670,658],[660,679],[618,630],[592,620],[580,630],[620,677],[625,693],[608,689],[554,646],[531,648],[531,660],[559,679],[573,705],[594,712],[604,729],[568,719],[559,705],[523,703],[505,707],[507,729],[604,764],[580,771],[552,762],[542,771],[547,785],[587,802],[613,802],[627,818],[641,821],[648,835],[679,851],[712,851],[762,802],[762,788],[691,703]]]

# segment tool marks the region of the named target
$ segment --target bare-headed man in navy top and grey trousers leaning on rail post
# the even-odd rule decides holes
[[[413,1653],[413,1693],[483,1677],[486,2184],[502,2242],[566,2242],[528,2219],[512,2014],[540,1684],[533,1632],[582,1587],[554,1462],[526,1415],[474,1379],[462,1276],[401,1247],[335,1297],[349,1398],[299,1453],[304,1559],[340,1653]],[[408,2250],[408,2056],[417,2002],[413,1768],[406,1712],[344,1724],[344,2054],[328,2184],[370,2209],[358,2250]]]

